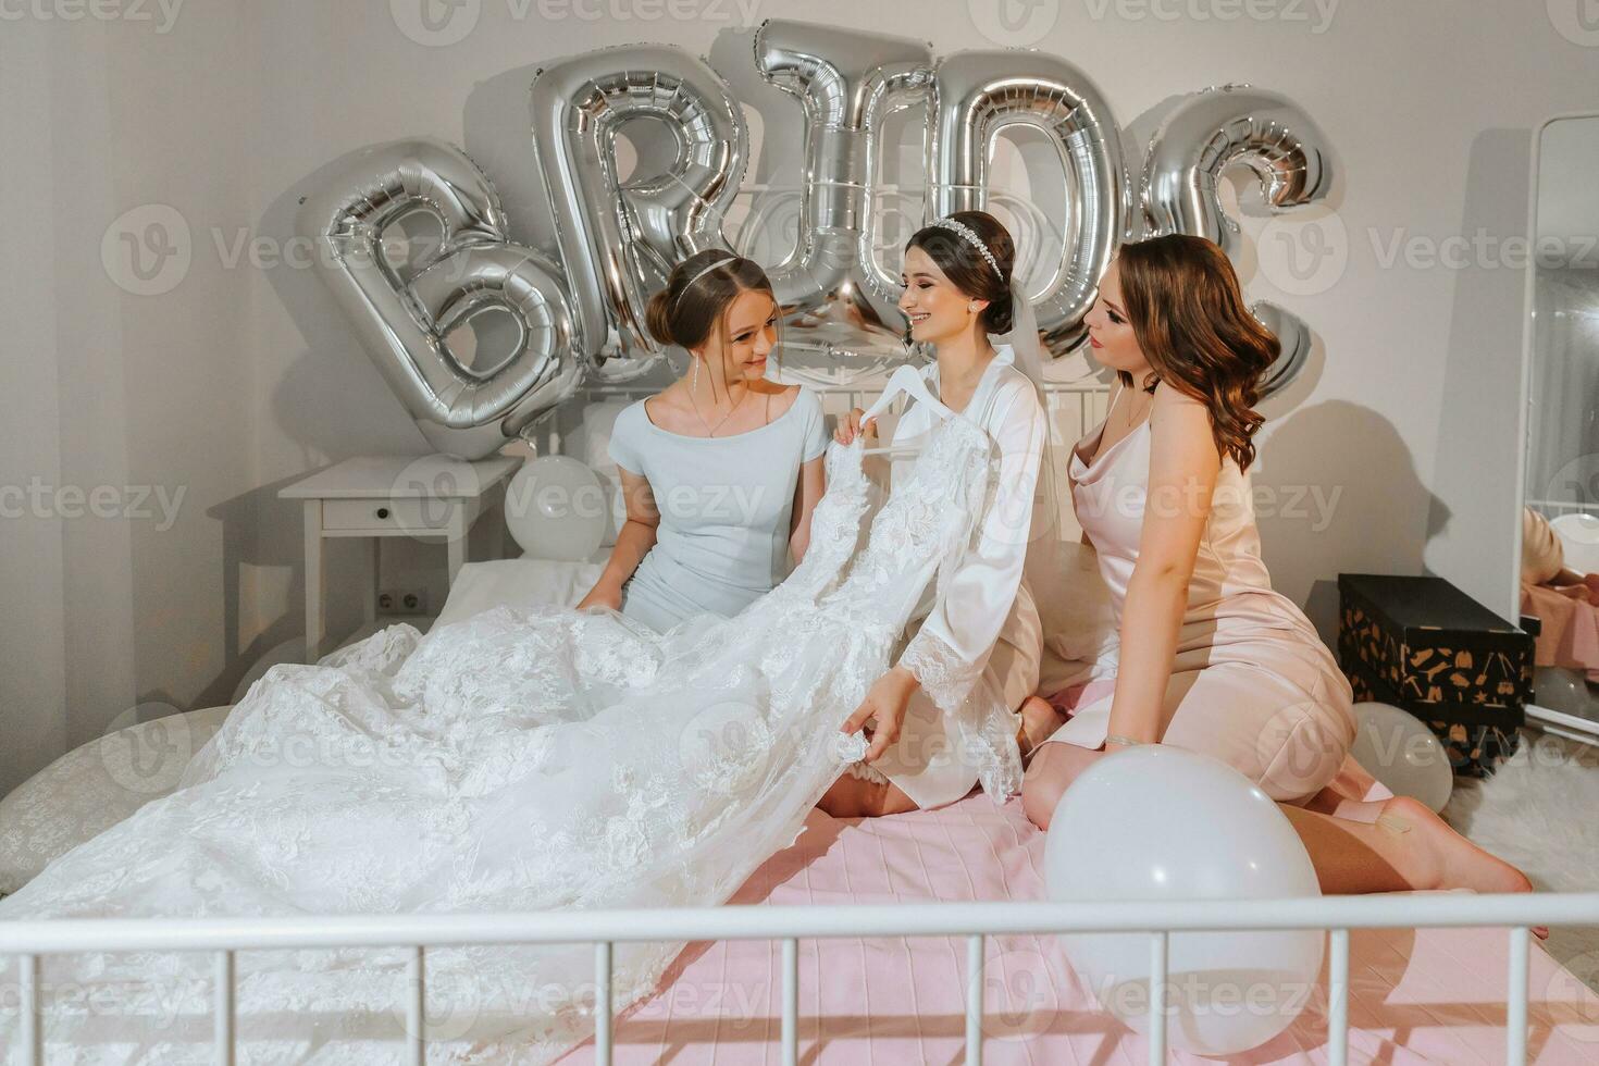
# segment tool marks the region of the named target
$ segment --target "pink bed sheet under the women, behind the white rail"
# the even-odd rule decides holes
[[[1044,834],[1020,802],[995,807],[979,791],[887,818],[814,810],[731,905],[1041,900],[1043,874]],[[689,945],[660,991],[617,1020],[616,1061],[780,1063],[780,953],[777,941]],[[1353,932],[1350,1061],[1503,1063],[1506,957],[1505,930]],[[1529,1061],[1599,1061],[1599,997],[1537,945],[1530,978]],[[1145,1039],[1095,1007],[1054,937],[988,938],[985,988],[985,1063],[1148,1061]],[[964,989],[963,938],[801,940],[800,1061],[964,1061]],[[1230,1061],[1327,1061],[1326,1004],[1324,970],[1286,1032]],[[588,1061],[592,1040],[561,1060]]]

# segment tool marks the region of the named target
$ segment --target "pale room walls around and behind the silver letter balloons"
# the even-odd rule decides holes
[[[165,34],[32,16],[0,26],[6,189],[37,205],[6,214],[16,432],[0,484],[38,473],[187,489],[165,532],[141,519],[10,523],[6,599],[26,606],[0,650],[0,788],[138,703],[225,702],[254,658],[301,631],[299,515],[275,491],[347,455],[425,451],[310,270],[225,261],[240,232],[281,248],[318,169],[365,144],[440,136],[496,181],[515,237],[545,245],[526,117],[542,62],[636,40],[708,53],[768,128],[755,173],[782,176],[792,163],[774,145],[793,141],[771,129],[796,112],[755,85],[753,22],[931,38],[947,54],[990,46],[974,18],[993,26],[995,5],[744,2],[752,22],[736,0],[467,0],[454,10],[477,24],[445,46],[401,32],[398,0],[211,0],[181,6]],[[1396,238],[1425,251],[1479,227],[1495,240],[1522,233],[1529,129],[1599,107],[1599,50],[1565,40],[1533,0],[1345,0],[1326,26],[1314,3],[1276,6],[1308,21],[1166,19],[1130,0],[1011,10],[1043,19],[1036,46],[1084,67],[1124,126],[1223,82],[1282,91],[1314,115],[1337,150],[1332,213],[1268,225],[1258,195],[1241,193],[1250,296],[1295,310],[1318,336],[1306,374],[1265,404],[1255,481],[1282,505],[1303,497],[1302,513],[1263,516],[1266,561],[1327,636],[1338,571],[1434,571],[1509,614],[1521,270],[1481,253],[1465,268],[1383,254]],[[628,18],[579,16],[595,8]],[[683,10],[705,18],[644,18]],[[192,262],[169,292],[133,296],[107,278],[101,238],[150,203],[184,217]],[[1308,229],[1342,251],[1342,270],[1334,256],[1310,281],[1294,278],[1276,232],[1303,240]],[[1316,489],[1335,500],[1326,526]],[[355,545],[336,547],[334,574],[347,574]],[[441,561],[441,548],[405,545],[385,569],[437,596]],[[355,620],[349,577],[333,599],[339,633]]]

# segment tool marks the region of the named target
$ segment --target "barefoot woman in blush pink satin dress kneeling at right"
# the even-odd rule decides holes
[[[1354,740],[1351,692],[1260,559],[1249,465],[1263,419],[1252,408],[1279,344],[1222,249],[1183,235],[1126,245],[1087,324],[1121,387],[1068,475],[1111,593],[1119,665],[1113,690],[1078,700],[1033,754],[1028,818],[1049,828],[1065,788],[1108,751],[1169,743],[1276,799],[1326,892],[1530,890],[1423,804],[1329,788]]]

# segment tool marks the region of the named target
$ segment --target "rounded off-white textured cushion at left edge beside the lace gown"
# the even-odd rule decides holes
[[[0,799],[0,895],[177,788],[230,706],[154,718],[74,748]]]

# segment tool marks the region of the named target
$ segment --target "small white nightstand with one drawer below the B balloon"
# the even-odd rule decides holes
[[[305,502],[305,662],[321,657],[326,633],[328,575],[323,537],[366,537],[365,617],[377,617],[382,537],[441,539],[449,551],[449,580],[467,561],[467,532],[483,511],[505,500],[505,483],[521,459],[496,455],[465,462],[448,455],[369,455],[345,459],[278,489]]]

